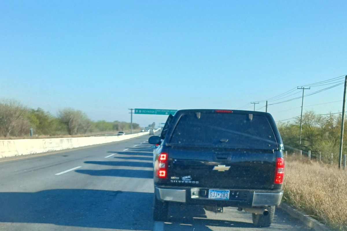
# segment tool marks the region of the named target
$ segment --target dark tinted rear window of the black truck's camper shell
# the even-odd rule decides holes
[[[236,113],[187,113],[179,119],[171,144],[242,149],[277,149],[268,119]]]

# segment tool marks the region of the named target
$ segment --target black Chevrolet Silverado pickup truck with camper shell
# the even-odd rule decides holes
[[[170,115],[154,148],[154,220],[168,219],[170,203],[252,213],[270,226],[282,199],[283,143],[269,113],[191,109]]]

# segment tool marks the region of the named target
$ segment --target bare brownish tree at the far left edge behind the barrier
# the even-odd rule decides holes
[[[27,112],[28,109],[16,100],[3,100],[0,102],[0,133],[5,137],[9,136],[16,124],[25,123],[25,114]]]

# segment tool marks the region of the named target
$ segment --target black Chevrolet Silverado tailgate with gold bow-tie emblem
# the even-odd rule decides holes
[[[272,189],[276,152],[171,148],[168,153],[168,184],[208,188]]]

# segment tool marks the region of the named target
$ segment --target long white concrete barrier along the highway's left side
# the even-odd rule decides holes
[[[0,158],[111,143],[148,134],[149,132],[141,132],[121,136],[115,135],[52,139],[0,140]]]

